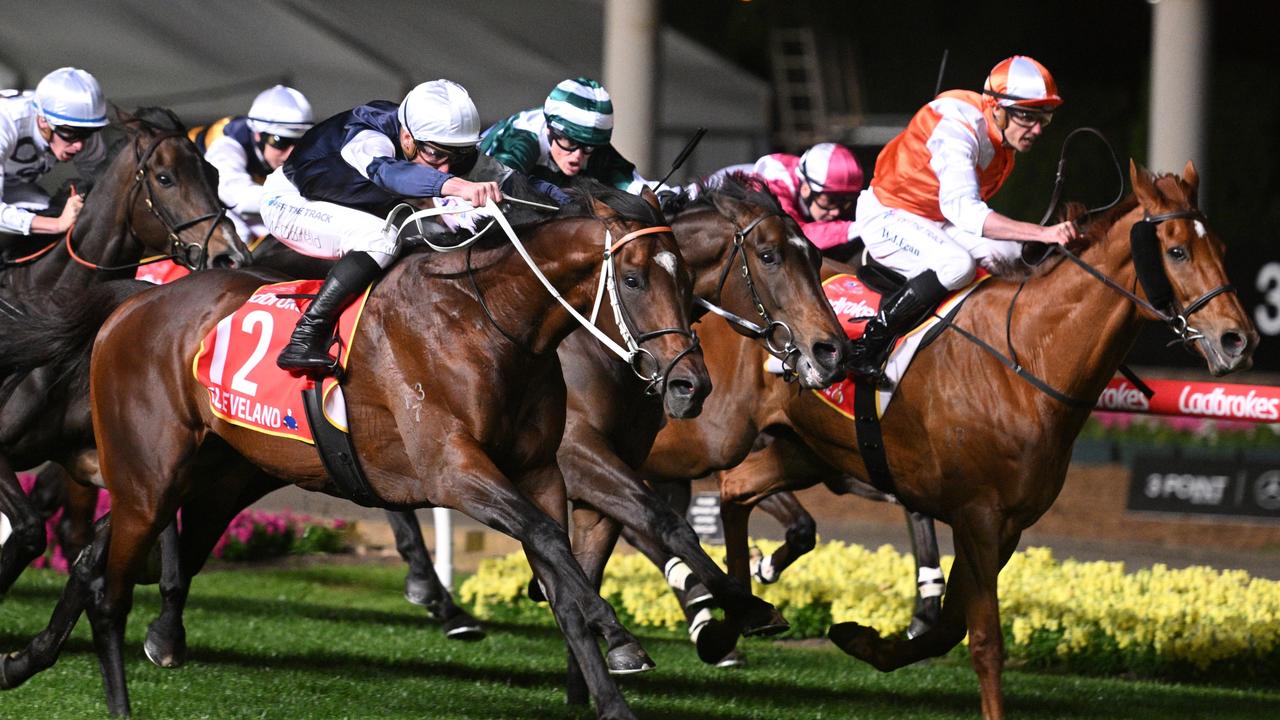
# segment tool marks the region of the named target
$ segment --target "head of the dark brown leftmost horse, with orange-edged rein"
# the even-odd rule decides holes
[[[132,152],[127,227],[146,250],[170,255],[191,269],[238,268],[250,252],[218,199],[218,170],[210,165],[172,110],[140,108],[122,113]]]

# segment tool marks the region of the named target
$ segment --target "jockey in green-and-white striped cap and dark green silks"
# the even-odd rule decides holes
[[[644,178],[609,145],[613,102],[585,77],[562,81],[534,108],[484,131],[480,149],[499,163],[564,187],[577,176],[639,192]]]

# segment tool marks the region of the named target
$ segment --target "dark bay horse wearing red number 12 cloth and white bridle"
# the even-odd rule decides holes
[[[613,288],[637,373],[668,414],[687,416],[700,410],[710,382],[689,331],[689,270],[662,223],[643,200],[584,183],[571,206],[550,220],[520,223],[520,234],[576,313],[591,306],[598,287]],[[452,507],[520,539],[598,715],[632,717],[609,671],[653,662],[591,588],[563,529],[556,448],[564,382],[553,350],[575,319],[513,249],[486,242],[477,258],[472,268],[470,258],[463,266],[456,255],[411,254],[370,293],[352,345],[358,363],[347,368],[344,387],[358,461],[387,506]],[[602,283],[602,273],[612,279]],[[177,507],[184,509],[182,560],[198,569],[244,497],[282,480],[338,492],[311,447],[219,419],[191,375],[200,338],[261,283],[252,273],[196,274],[132,297],[101,328],[91,402],[111,518],[77,561],[50,628],[0,660],[0,685],[47,667],[68,623],[87,609],[108,708],[128,715],[122,643],[132,587]],[[174,306],[193,310],[178,318]],[[178,347],[191,350],[175,355]],[[143,364],[140,356],[172,360]],[[142,396],[146,402],[118,402]],[[411,396],[420,401],[406,402]],[[134,433],[156,423],[159,433]],[[105,582],[100,601],[91,602],[88,582]]]

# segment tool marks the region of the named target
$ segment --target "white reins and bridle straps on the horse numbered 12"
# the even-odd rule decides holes
[[[470,213],[479,209],[480,208],[474,208],[468,204],[463,204],[454,208],[430,208],[426,210],[417,210],[410,214],[407,218],[404,218],[403,222],[401,222],[399,228],[397,229],[397,234],[399,234],[399,232],[403,231],[404,227],[407,227],[410,223],[419,223],[420,218],[429,218],[429,217],[454,214],[454,213]],[[559,293],[559,291],[556,290],[556,286],[553,286],[550,281],[547,279],[547,275],[544,275],[543,272],[538,268],[538,263],[535,263],[534,259],[529,255],[529,251],[525,249],[525,245],[520,241],[518,237],[516,237],[516,231],[512,229],[511,223],[507,222],[507,217],[502,213],[502,210],[492,200],[488,201],[483,206],[483,209],[490,214],[494,222],[497,222],[498,225],[502,228],[502,231],[507,234],[507,240],[509,240],[511,245],[516,247],[516,251],[520,252],[520,256],[525,260],[525,264],[529,265],[529,269],[532,270],[538,281],[543,284],[544,288],[547,288],[547,292],[550,293],[550,296],[554,297],[556,301],[559,302],[561,306],[563,306],[564,310],[575,320],[577,320],[580,325],[582,325],[584,328],[586,328],[588,332],[595,336],[595,338],[600,342],[600,345],[603,345],[614,355],[617,355],[623,363],[627,364],[628,368],[631,368],[631,372],[635,373],[636,377],[648,383],[645,387],[645,393],[657,395],[659,392],[659,388],[666,383],[667,375],[671,374],[672,368],[675,368],[676,364],[680,363],[680,360],[682,360],[686,355],[689,355],[690,352],[692,352],[699,347],[698,334],[691,331],[685,331],[682,328],[663,328],[650,332],[636,331],[635,323],[631,320],[631,315],[627,313],[626,305],[623,304],[621,295],[618,295],[617,284],[614,282],[617,274],[614,255],[617,254],[618,250],[621,250],[625,245],[627,245],[628,242],[631,242],[637,237],[659,232],[671,232],[671,227],[660,225],[660,227],[641,228],[623,234],[617,241],[613,241],[612,233],[609,232],[608,228],[605,228],[604,252],[600,268],[600,283],[596,288],[595,301],[591,309],[591,316],[586,318],[585,315],[579,313],[572,305],[570,305],[570,302],[564,300],[564,297]],[[399,206],[392,210],[390,217],[388,217],[387,219],[388,228],[390,228],[394,224],[393,219],[398,211]],[[417,227],[419,229],[421,229],[421,224],[419,224]],[[485,315],[489,318],[489,322],[498,328],[498,331],[503,334],[503,337],[506,337],[507,340],[512,341],[516,345],[521,345],[515,337],[511,336],[511,333],[508,333],[506,329],[502,328],[502,325],[498,324],[497,319],[489,311],[489,307],[484,301],[484,295],[480,293],[480,287],[476,283],[475,274],[471,272],[470,246],[476,242],[480,234],[483,234],[483,232],[476,233],[466,242],[454,246],[439,246],[431,243],[430,241],[428,241],[428,246],[440,252],[453,252],[468,249],[467,275],[471,278],[471,284],[472,288],[476,291],[476,297],[480,301],[480,306],[484,309]],[[609,304],[613,307],[613,318],[617,322],[618,332],[620,334],[622,334],[622,341],[625,346],[614,342],[613,338],[607,336],[604,331],[602,331],[599,327],[595,325],[595,318],[599,314],[599,309],[605,293],[608,293],[609,296]],[[687,336],[690,338],[690,343],[689,347],[677,354],[667,364],[666,368],[659,369],[657,357],[653,355],[653,352],[641,347],[641,343],[664,334]],[[652,373],[646,373],[645,369],[646,361],[653,368]]]

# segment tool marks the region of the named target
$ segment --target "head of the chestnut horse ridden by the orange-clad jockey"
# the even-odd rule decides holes
[[[1129,178],[1142,211],[1130,242],[1151,304],[1144,311],[1194,347],[1215,377],[1248,369],[1258,333],[1226,278],[1225,243],[1197,206],[1196,165],[1156,177],[1130,160]]]

